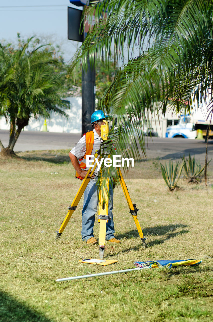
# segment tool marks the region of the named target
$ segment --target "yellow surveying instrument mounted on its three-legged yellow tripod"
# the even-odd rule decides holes
[[[100,161],[100,157],[104,154],[104,151],[107,150],[107,148],[109,148],[109,144],[110,144],[110,140],[108,138],[108,133],[109,133],[109,123],[107,120],[103,119],[104,124],[101,125],[101,137],[100,137],[100,148],[101,148],[101,153],[100,150],[95,152],[95,158],[99,156],[98,158],[98,162]],[[109,155],[108,155],[109,157]],[[64,231],[64,229],[66,228],[69,219],[71,218],[72,214],[74,213],[74,211],[76,210],[79,201],[89,183],[89,180],[91,179],[96,167],[97,167],[97,163],[96,160],[94,158],[94,161],[92,162],[84,180],[82,181],[79,191],[77,192],[72,204],[69,206],[68,208],[68,213],[62,223],[62,225],[60,226],[59,231],[57,231],[57,236],[56,239],[60,238],[62,232]],[[98,223],[100,223],[100,228],[99,228],[99,256],[100,259],[102,259],[104,257],[104,251],[105,251],[105,242],[106,242],[106,223],[108,222],[108,220],[111,219],[111,217],[108,215],[108,201],[109,201],[109,175],[103,176],[103,166],[101,166],[101,179],[100,179],[100,184],[102,185],[102,187],[99,189],[99,200],[98,200]],[[108,173],[108,168],[107,170]],[[131,215],[133,216],[135,225],[137,227],[139,236],[141,238],[141,241],[143,243],[144,247],[147,247],[146,244],[146,239],[147,237],[144,238],[143,232],[141,230],[138,218],[137,218],[137,212],[138,209],[136,208],[136,204],[132,203],[132,200],[130,198],[127,186],[125,184],[123,175],[121,173],[120,167],[116,167],[116,171],[117,171],[117,175],[119,178],[119,182],[120,185],[122,187],[122,190],[124,192],[128,207],[129,207],[129,212],[131,213]]]

